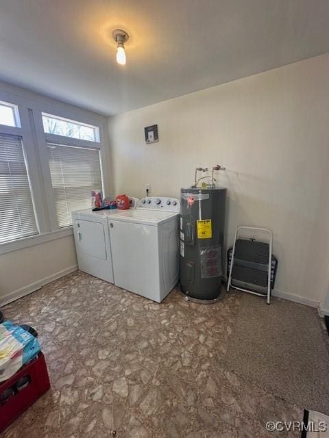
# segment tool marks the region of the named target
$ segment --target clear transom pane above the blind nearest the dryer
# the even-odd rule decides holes
[[[88,140],[90,142],[99,142],[99,129],[93,125],[84,125],[75,120],[44,113],[42,113],[42,122],[46,133]]]

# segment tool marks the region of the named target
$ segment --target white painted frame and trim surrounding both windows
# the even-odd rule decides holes
[[[8,92],[7,90],[10,90],[10,88],[14,92]],[[62,228],[58,227],[47,152],[48,142],[99,149],[103,196],[107,196],[106,190],[109,187],[109,181],[106,166],[104,165],[108,162],[108,131],[105,117],[47,98],[41,94],[10,86],[1,81],[0,102],[16,107],[19,114],[21,127],[0,125],[0,132],[21,136],[22,138],[27,172],[31,183],[34,211],[36,212],[36,223],[39,231],[38,235],[22,237],[0,244],[1,255],[73,234],[73,227],[71,225]],[[45,133],[42,113],[72,121],[76,120],[83,125],[97,127],[99,142]]]

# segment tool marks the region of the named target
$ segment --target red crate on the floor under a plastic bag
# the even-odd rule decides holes
[[[28,384],[20,391],[17,385],[22,378],[27,378]],[[5,430],[21,413],[30,407],[42,394],[50,388],[45,356],[40,352],[34,361],[24,365],[21,370],[7,381],[0,383],[0,397],[4,391],[12,390],[12,396],[0,401],[0,433]]]

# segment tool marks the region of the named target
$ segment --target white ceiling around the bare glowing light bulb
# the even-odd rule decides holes
[[[329,0],[0,0],[0,79],[112,115],[326,53],[328,22]]]

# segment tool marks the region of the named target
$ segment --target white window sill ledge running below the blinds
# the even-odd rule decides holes
[[[0,255],[12,253],[12,251],[28,248],[29,246],[40,245],[45,242],[50,242],[51,240],[61,239],[68,235],[73,235],[73,227],[66,227],[57,231],[50,231],[49,233],[32,235],[12,242],[5,242],[0,244]]]

